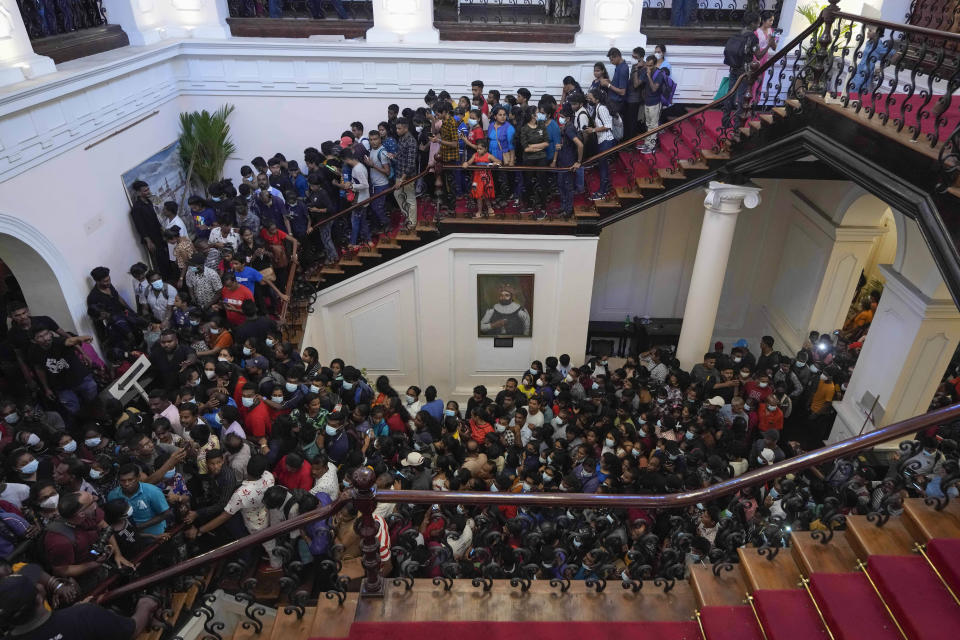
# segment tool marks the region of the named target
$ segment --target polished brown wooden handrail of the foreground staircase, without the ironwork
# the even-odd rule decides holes
[[[667,494],[591,494],[591,493],[479,493],[467,491],[375,491],[378,502],[402,502],[404,504],[471,504],[488,506],[524,506],[524,507],[594,507],[608,509],[670,509],[683,507],[697,502],[705,502],[721,498],[744,487],[756,486],[782,477],[788,473],[797,473],[830,462],[837,458],[850,456],[854,453],[875,447],[878,444],[896,440],[902,436],[915,433],[921,429],[949,422],[960,418],[960,404],[944,409],[903,420],[895,424],[881,427],[870,433],[856,436],[836,444],[828,445],[816,451],[810,451],[784,460],[778,464],[749,471],[737,478],[724,480],[717,484],[684,491],[682,493]],[[119,596],[146,588],[151,584],[173,578],[182,573],[192,571],[211,562],[222,560],[242,549],[260,544],[271,538],[298,529],[303,525],[329,517],[351,502],[356,496],[356,489],[344,492],[336,501],[322,509],[311,511],[292,520],[287,520],[273,527],[268,527],[245,538],[234,540],[222,547],[208,551],[174,567],[168,567],[156,573],[135,580],[119,589],[101,595],[98,602],[108,602]]]

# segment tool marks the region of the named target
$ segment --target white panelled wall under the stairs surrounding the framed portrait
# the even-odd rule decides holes
[[[453,234],[323,290],[303,344],[440,397],[499,388],[534,359],[583,353],[597,239]],[[477,337],[478,274],[533,274],[533,335]]]

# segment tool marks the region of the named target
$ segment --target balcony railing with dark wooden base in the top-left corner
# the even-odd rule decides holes
[[[33,50],[56,63],[130,44],[102,0],[17,0]]]

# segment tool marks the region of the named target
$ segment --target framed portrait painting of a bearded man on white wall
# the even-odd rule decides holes
[[[533,335],[533,274],[477,274],[480,337]]]

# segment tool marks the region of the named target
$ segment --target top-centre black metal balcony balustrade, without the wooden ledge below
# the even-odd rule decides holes
[[[576,25],[581,0],[434,0],[434,22],[475,26]]]

